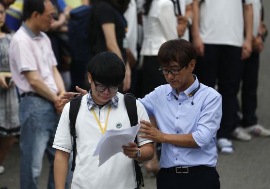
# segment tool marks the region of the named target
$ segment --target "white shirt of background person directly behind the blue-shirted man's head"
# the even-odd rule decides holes
[[[141,55],[157,56],[159,47],[178,38],[177,19],[171,0],[153,0],[147,16],[143,15],[143,46]]]

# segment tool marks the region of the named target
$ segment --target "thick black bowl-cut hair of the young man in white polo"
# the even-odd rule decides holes
[[[111,86],[121,84],[126,73],[125,64],[112,52],[95,55],[88,63],[87,69],[93,80]]]

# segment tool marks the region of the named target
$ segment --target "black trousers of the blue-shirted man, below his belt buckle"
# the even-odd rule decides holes
[[[195,173],[171,173],[161,168],[157,189],[220,189],[219,174],[214,168]]]

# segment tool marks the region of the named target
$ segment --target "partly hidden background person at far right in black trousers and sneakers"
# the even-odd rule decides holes
[[[260,53],[264,47],[267,28],[264,23],[263,7],[261,1],[253,3],[253,41],[251,56],[243,61],[241,105],[242,118],[232,135],[241,141],[250,141],[254,136],[270,136],[270,129],[258,124],[256,116],[257,86]]]

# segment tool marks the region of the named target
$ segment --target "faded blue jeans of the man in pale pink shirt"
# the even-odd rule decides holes
[[[45,152],[50,163],[48,189],[55,189],[53,177],[55,149],[52,148],[52,144],[59,115],[57,115],[54,105],[45,98],[23,97],[19,105],[19,119],[21,124],[21,189],[37,189]],[[65,189],[68,189],[69,181],[70,172],[67,175]]]

